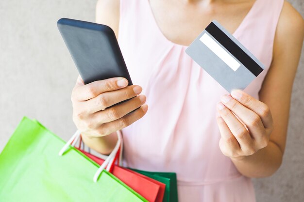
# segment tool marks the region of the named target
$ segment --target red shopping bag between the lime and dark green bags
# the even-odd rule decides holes
[[[92,155],[90,153],[87,153],[84,150],[81,150],[80,148],[78,148],[78,150],[84,153],[84,155],[88,156],[99,165],[101,165],[104,162],[103,159],[95,155]],[[116,159],[117,160],[119,159],[118,158],[119,150],[117,155],[115,156],[114,162],[116,161]],[[166,188],[165,184],[158,182],[157,180],[154,180],[152,178],[149,178],[145,175],[142,175],[140,173],[137,173],[135,171],[122,168],[118,165],[114,165],[114,163],[110,168],[110,172],[114,174],[119,180],[124,182],[127,186],[130,186],[138,194],[140,194],[145,199],[147,199],[149,202],[163,201],[165,188]]]

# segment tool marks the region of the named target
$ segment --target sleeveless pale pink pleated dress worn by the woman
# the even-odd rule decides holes
[[[265,70],[245,89],[258,98],[283,0],[256,0],[234,36]],[[168,11],[169,12],[169,11]],[[179,202],[255,202],[250,178],[219,148],[216,104],[228,92],[158,28],[149,0],[120,0],[118,43],[147,114],[122,130],[125,165],[176,172]],[[203,28],[202,28],[203,31]]]

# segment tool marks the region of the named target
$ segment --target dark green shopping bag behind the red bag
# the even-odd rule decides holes
[[[175,172],[151,172],[141,171],[129,168],[135,172],[146,175],[154,180],[157,180],[166,185],[165,195],[163,202],[178,202],[177,196],[177,180]]]

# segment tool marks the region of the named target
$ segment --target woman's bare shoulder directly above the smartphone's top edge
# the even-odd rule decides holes
[[[120,0],[98,0],[96,3],[96,23],[104,24],[112,28],[116,37],[118,37],[119,1]]]

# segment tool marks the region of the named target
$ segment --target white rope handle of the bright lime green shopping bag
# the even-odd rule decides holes
[[[121,147],[120,148],[120,153],[119,153],[119,165],[122,165],[121,163],[121,155],[122,155],[122,135],[121,135],[121,132],[120,130],[116,131],[117,133],[117,137],[118,137],[118,141],[113,149],[113,151],[111,152],[110,155],[108,155],[104,162],[101,164],[101,166],[99,167],[99,169],[96,171],[96,173],[94,174],[94,177],[93,177],[93,181],[94,182],[97,182],[99,176],[101,175],[101,172],[103,171],[103,169],[106,168],[106,171],[109,171],[112,164],[114,163],[114,159],[115,159],[115,156],[118,152],[118,149],[119,149],[119,146]],[[59,154],[58,155],[63,155],[67,150],[68,150],[68,147],[69,145],[71,145],[72,147],[75,146],[77,140],[79,139],[80,137],[80,131],[77,130],[74,135],[68,140],[68,142],[62,147],[62,149],[59,151]],[[73,143],[72,143],[73,142]],[[71,144],[72,143],[72,144]]]

